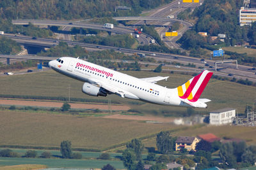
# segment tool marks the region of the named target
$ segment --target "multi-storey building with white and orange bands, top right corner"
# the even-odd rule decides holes
[[[256,8],[244,8],[241,7],[239,10],[239,24],[243,25],[251,25],[252,22],[256,20]]]

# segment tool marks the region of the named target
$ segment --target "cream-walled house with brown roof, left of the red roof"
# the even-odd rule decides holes
[[[195,150],[196,143],[199,141],[200,140],[196,137],[179,136],[175,141],[175,150],[180,150],[182,148],[185,148],[188,151]]]

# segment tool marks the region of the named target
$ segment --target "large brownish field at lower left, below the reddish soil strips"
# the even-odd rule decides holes
[[[0,145],[54,146],[69,140],[72,148],[104,149],[160,131],[179,128],[137,120],[0,111]],[[125,135],[124,135],[125,134]]]

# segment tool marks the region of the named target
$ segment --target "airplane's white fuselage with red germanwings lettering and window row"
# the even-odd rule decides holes
[[[122,89],[141,101],[174,106],[189,106],[182,102],[177,89],[168,89],[140,78],[129,76],[106,67],[72,57],[61,57],[63,63],[52,60],[49,65],[55,71],[88,83],[102,82]],[[129,98],[129,97],[127,97]]]

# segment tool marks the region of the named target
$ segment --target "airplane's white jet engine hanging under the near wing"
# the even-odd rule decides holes
[[[102,87],[97,87],[90,83],[84,83],[82,92],[90,96],[107,96],[106,90],[104,90]]]

